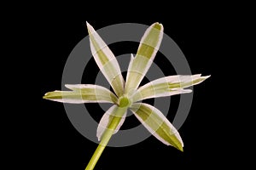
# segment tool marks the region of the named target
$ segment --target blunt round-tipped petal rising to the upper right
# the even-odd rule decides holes
[[[125,82],[125,94],[137,89],[142,82],[160,47],[163,29],[161,24],[154,23],[145,31],[135,58],[131,57]]]

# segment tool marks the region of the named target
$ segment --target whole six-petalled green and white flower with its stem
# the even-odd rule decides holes
[[[201,74],[193,76],[169,76],[162,77],[139,87],[140,82],[147,73],[154,60],[160,42],[163,37],[163,26],[154,23],[145,31],[136,56],[132,56],[128,67],[126,81],[122,77],[117,59],[107,44],[96,33],[90,24],[87,23],[90,35],[90,49],[103,75],[107,78],[114,94],[98,85],[92,84],[66,84],[71,91],[53,91],[44,95],[44,99],[50,99],[64,103],[112,103],[113,106],[102,116],[97,127],[96,136],[100,140],[94,155],[85,169],[93,169],[102,155],[102,151],[108,144],[109,139],[125,121],[126,112],[130,109],[137,119],[143,123],[157,139],[167,145],[172,145],[183,151],[183,141],[166,119],[161,111],[152,105],[141,103],[143,99],[159,98],[175,94],[190,93],[189,86],[199,84],[208,77],[201,77]]]

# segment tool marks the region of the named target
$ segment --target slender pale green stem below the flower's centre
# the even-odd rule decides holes
[[[113,119],[111,122],[108,123],[108,128],[102,135],[101,143],[96,148],[93,156],[91,156],[90,161],[85,168],[85,170],[93,170],[93,168],[96,166],[96,162],[99,160],[100,156],[102,155],[103,150],[105,149],[106,145],[108,144],[109,139],[111,139],[114,129],[119,125],[119,122],[122,118],[122,116],[127,111],[127,108],[121,108],[118,107],[116,110]]]

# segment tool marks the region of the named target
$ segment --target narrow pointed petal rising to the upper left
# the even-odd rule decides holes
[[[102,40],[98,33],[87,22],[87,29],[90,36],[90,50],[96,60],[96,64],[107,78],[113,91],[117,96],[124,93],[124,78],[121,74],[119,63],[108,45]]]

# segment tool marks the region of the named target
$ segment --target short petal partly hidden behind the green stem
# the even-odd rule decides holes
[[[102,139],[102,135],[106,132],[107,129],[112,131],[112,134],[117,133],[119,128],[125,122],[126,112],[126,108],[120,108],[117,105],[110,107],[108,111],[106,111],[106,113],[102,116],[102,119],[98,125],[98,140]]]

